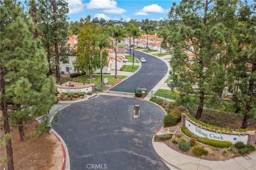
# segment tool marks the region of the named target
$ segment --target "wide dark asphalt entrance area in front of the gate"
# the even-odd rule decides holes
[[[133,119],[135,104],[139,119]],[[163,117],[149,101],[102,95],[62,109],[52,127],[66,142],[71,169],[169,169],[151,143]]]

